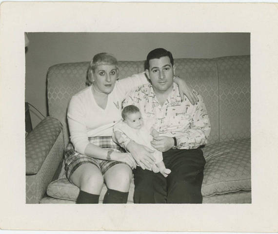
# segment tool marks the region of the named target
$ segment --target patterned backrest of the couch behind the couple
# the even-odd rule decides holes
[[[85,88],[89,62],[56,64],[49,68],[49,115],[63,125],[69,142],[66,111],[70,98]],[[176,59],[176,74],[202,95],[211,121],[209,144],[250,137],[250,56],[216,59]],[[120,61],[120,77],[144,70],[143,61]]]

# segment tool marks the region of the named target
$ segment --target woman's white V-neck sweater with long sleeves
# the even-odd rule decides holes
[[[105,109],[96,103],[92,86],[75,94],[70,100],[67,112],[70,140],[75,150],[84,154],[89,144],[88,137],[112,136],[114,125],[121,119],[121,103],[125,95],[147,82],[145,73],[117,81],[108,95]]]

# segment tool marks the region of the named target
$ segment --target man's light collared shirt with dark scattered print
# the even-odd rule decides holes
[[[138,87],[130,92],[123,107],[138,106],[145,121],[151,123],[159,135],[176,137],[178,149],[196,149],[205,145],[210,133],[210,121],[202,97],[192,105],[185,97],[181,102],[177,84],[169,94],[163,106],[160,106],[151,84]]]

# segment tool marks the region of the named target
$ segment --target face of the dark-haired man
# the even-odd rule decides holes
[[[175,66],[173,67],[168,56],[149,61],[149,70],[146,70],[153,88],[158,92],[167,92],[173,88]]]

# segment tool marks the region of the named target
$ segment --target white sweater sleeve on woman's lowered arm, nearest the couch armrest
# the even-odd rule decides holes
[[[86,111],[82,100],[79,96],[73,96],[68,106],[67,120],[70,140],[74,149],[81,154],[84,154],[89,144],[85,116]]]

